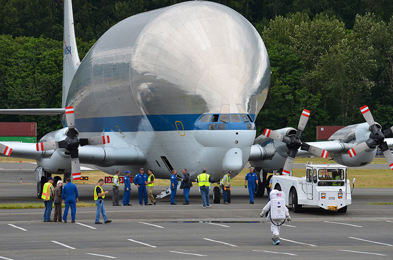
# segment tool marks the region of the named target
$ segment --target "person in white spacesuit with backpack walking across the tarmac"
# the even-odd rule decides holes
[[[286,221],[290,222],[288,208],[285,206],[285,193],[274,189],[270,192],[270,201],[262,209],[261,217],[268,213],[267,220],[271,222],[270,229],[273,233],[273,244],[280,244],[280,226]]]

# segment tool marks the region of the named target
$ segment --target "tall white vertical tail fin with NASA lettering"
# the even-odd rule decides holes
[[[65,107],[68,90],[81,60],[79,59],[74,29],[74,15],[71,0],[64,0],[64,40],[63,40],[63,95],[61,107]]]

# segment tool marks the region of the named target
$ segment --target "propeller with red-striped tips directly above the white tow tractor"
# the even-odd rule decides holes
[[[302,115],[299,119],[298,129],[296,131],[295,136],[286,136],[277,131],[265,129],[263,131],[263,135],[269,137],[271,139],[284,142],[289,149],[288,156],[286,157],[284,168],[282,169],[282,173],[285,175],[289,175],[293,162],[295,161],[296,154],[298,153],[299,148],[303,151],[308,151],[310,154],[315,156],[320,156],[323,158],[327,158],[329,156],[329,152],[321,149],[316,146],[309,145],[305,142],[302,142],[303,131],[309,121],[310,111],[307,109],[303,109]]]

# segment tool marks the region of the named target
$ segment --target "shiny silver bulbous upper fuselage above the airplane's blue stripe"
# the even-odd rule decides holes
[[[256,117],[269,82],[269,58],[256,29],[224,5],[189,1],[110,28],[84,57],[66,104],[76,107],[77,120],[220,112]],[[94,99],[106,102],[98,106]]]

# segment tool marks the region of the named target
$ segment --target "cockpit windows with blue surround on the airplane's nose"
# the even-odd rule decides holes
[[[255,130],[250,114],[203,114],[194,124],[194,130]]]

